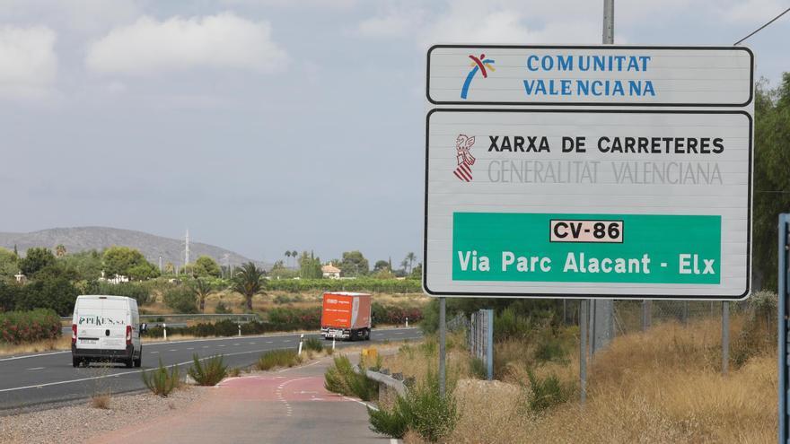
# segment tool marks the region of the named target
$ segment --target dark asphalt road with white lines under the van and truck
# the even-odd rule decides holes
[[[308,336],[311,335],[305,335]],[[422,333],[417,328],[374,329],[371,343],[419,337]],[[0,358],[0,414],[12,409],[85,399],[108,390],[123,393],[143,389],[145,385],[140,373],[158,366],[159,360],[164,365],[178,364],[186,372],[194,353],[200,357],[222,354],[230,367],[243,367],[257,361],[263,352],[295,349],[298,344],[298,334],[143,344],[143,367],[140,369],[97,364],[75,369],[71,365],[70,351]],[[365,343],[338,342],[336,346],[352,344]]]

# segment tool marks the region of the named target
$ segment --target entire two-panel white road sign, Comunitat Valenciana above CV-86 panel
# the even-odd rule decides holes
[[[748,48],[430,48],[425,291],[747,297],[752,96]]]

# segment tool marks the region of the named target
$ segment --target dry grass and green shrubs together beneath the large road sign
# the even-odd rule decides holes
[[[408,396],[383,397],[379,411],[369,413],[371,427],[407,443],[559,443],[568,437],[771,442],[777,433],[776,304],[776,294],[757,292],[734,309],[726,376],[717,317],[690,319],[688,325],[656,321],[645,333],[618,335],[590,361],[584,407],[578,401],[577,327],[537,307],[529,311],[529,303],[507,307],[495,321],[495,380],[483,380],[465,335],[450,334],[447,404],[438,405],[438,391],[429,389],[436,378],[435,336],[405,344],[382,367],[416,382]],[[423,404],[432,408],[412,414]],[[416,423],[417,417],[424,422]]]

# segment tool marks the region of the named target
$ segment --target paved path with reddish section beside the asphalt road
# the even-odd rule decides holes
[[[300,368],[226,379],[187,409],[90,442],[391,442],[370,431],[361,401],[323,387],[330,363],[331,358],[324,358]]]

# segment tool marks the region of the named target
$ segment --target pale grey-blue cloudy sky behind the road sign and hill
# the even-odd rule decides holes
[[[426,48],[600,43],[601,4],[0,0],[0,231],[421,258]],[[787,6],[618,0],[615,42],[732,45]],[[788,41],[747,41],[758,76]]]

